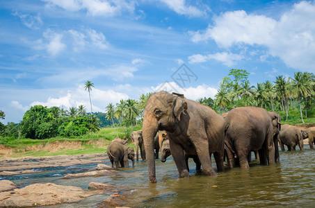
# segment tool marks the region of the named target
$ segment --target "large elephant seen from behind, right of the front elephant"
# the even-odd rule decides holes
[[[250,168],[248,157],[258,151],[260,164],[275,164],[279,150],[275,148],[280,131],[280,116],[261,107],[236,107],[225,117],[225,147],[229,168],[239,161]],[[276,144],[277,145],[277,144]]]

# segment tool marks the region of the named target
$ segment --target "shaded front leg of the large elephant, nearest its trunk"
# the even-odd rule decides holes
[[[189,174],[188,167],[186,166],[184,149],[170,139],[170,151],[172,152],[172,157],[177,166],[179,177],[188,177]]]

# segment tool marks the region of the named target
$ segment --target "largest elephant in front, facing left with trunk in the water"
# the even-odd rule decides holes
[[[150,182],[156,182],[154,137],[158,130],[168,132],[179,177],[189,176],[184,150],[188,155],[199,157],[204,174],[216,175],[211,164],[211,153],[214,153],[218,171],[223,171],[223,117],[210,107],[184,98],[184,95],[158,92],[147,101],[143,118],[143,140]]]

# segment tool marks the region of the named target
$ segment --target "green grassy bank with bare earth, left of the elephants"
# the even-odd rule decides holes
[[[137,125],[133,130],[140,130]],[[80,155],[106,153],[108,144],[116,137],[129,140],[128,146],[134,146],[129,137],[131,127],[102,128],[99,132],[88,133],[82,137],[51,139],[15,139],[0,138],[0,157]]]

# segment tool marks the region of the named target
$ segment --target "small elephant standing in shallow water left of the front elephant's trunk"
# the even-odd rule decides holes
[[[129,167],[128,159],[131,159],[132,166],[134,166],[134,148],[127,147],[119,141],[111,141],[107,148],[107,155],[113,168],[114,162],[116,168]]]

